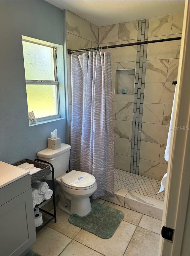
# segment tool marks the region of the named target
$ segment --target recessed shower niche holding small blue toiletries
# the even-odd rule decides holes
[[[115,70],[115,94],[134,95],[135,69]]]

